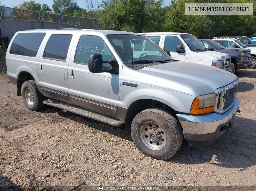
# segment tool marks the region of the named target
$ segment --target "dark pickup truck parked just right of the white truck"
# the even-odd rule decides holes
[[[208,48],[209,50],[226,53],[231,56],[231,72],[234,72],[238,69],[246,69],[250,68],[252,61],[251,61],[251,50],[244,49],[244,48],[225,48],[224,46],[220,45],[219,43],[215,42],[211,39],[198,39],[200,42]]]

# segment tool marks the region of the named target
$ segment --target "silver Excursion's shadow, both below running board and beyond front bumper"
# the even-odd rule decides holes
[[[125,136],[124,127],[113,127],[57,108],[51,108],[48,112],[58,112],[59,116],[132,141],[130,136]],[[195,165],[208,162],[209,164],[227,168],[251,167],[256,164],[254,160],[256,157],[255,123],[255,120],[236,116],[233,128],[208,147],[192,148],[184,140],[180,150],[168,161]]]

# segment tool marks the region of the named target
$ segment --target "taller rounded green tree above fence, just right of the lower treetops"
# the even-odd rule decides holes
[[[53,0],[52,9],[56,14],[72,15],[79,6],[74,0]]]

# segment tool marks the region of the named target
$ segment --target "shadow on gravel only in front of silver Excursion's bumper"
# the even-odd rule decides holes
[[[191,148],[185,141],[181,149],[168,161],[180,164],[208,162],[226,168],[248,168],[256,164],[255,120],[235,117],[229,132],[216,139],[206,148]]]

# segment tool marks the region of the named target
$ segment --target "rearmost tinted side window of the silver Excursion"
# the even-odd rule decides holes
[[[19,33],[10,47],[10,54],[35,57],[46,33]]]

